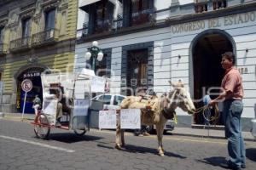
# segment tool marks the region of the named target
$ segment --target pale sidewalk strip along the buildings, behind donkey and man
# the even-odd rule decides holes
[[[21,121],[20,113],[1,113],[0,112],[0,119],[4,117],[5,119],[9,120],[16,120]],[[32,122],[34,120],[33,114],[24,114],[23,121]],[[180,135],[180,136],[192,136],[192,137],[206,137],[212,139],[224,139],[224,130],[215,130],[215,129],[198,129],[198,128],[191,128],[191,127],[174,127],[174,130],[171,131],[173,135]],[[242,132],[244,140],[246,141],[256,141],[254,139],[252,133],[250,132]]]

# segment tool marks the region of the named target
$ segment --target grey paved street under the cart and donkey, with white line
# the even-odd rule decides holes
[[[225,169],[226,140],[167,133],[166,156],[157,155],[155,135],[125,133],[124,150],[114,149],[115,132],[92,129],[83,137],[53,128],[48,140],[37,139],[29,119],[0,119],[0,169]],[[247,169],[255,169],[256,143],[246,141]]]

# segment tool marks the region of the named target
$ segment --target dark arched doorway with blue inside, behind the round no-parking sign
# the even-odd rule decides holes
[[[32,81],[32,90],[26,94],[26,105],[25,113],[34,113],[32,108],[32,100],[38,94],[39,98],[43,99],[43,90],[41,82],[41,73],[45,71],[44,67],[29,67],[26,69],[20,69],[16,74],[17,82],[17,97],[16,97],[16,109],[17,111],[23,111],[25,92],[21,89],[21,82],[25,79],[30,79]]]

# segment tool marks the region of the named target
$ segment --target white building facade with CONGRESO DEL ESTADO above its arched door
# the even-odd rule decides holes
[[[234,52],[245,88],[242,124],[249,130],[256,101],[255,1],[80,0],[77,29],[74,71],[90,63],[84,54],[96,40],[105,54],[96,68],[111,78],[111,93],[146,88],[163,94],[168,80],[182,79],[196,107],[208,90],[212,97],[218,92],[221,54]],[[177,110],[177,116],[178,126],[205,122],[202,114]],[[217,124],[223,125],[221,117]]]

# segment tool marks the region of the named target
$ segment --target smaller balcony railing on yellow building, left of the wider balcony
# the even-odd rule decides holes
[[[29,48],[31,37],[21,37],[19,39],[12,40],[9,43],[10,51],[23,50]]]

